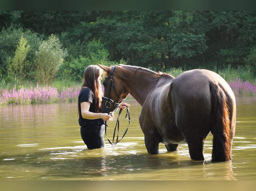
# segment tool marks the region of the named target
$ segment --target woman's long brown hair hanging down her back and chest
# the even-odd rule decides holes
[[[84,72],[84,83],[80,92],[84,88],[90,88],[95,96],[95,112],[100,112],[101,100],[103,92],[101,84],[98,81],[99,76],[103,73],[103,70],[97,65],[90,65],[85,69]]]

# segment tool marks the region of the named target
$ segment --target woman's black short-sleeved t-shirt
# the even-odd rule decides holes
[[[94,96],[93,92],[89,88],[84,88],[80,92],[80,94],[78,96],[78,107],[79,107],[79,119],[78,119],[78,122],[79,122],[79,125],[80,126],[97,125],[97,124],[102,125],[104,123],[104,121],[101,118],[99,118],[99,119],[84,119],[82,117],[82,114],[81,114],[81,103],[85,102],[85,101],[91,102],[89,111],[95,113],[96,112],[95,111],[95,96]]]

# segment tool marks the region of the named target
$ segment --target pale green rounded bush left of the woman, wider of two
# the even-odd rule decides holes
[[[59,39],[55,35],[51,35],[47,41],[43,41],[39,50],[36,51],[36,81],[44,85],[50,84],[66,56],[67,52],[61,48]]]

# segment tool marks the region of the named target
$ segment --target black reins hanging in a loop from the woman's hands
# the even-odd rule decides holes
[[[128,128],[129,128],[129,126],[130,126],[130,119],[131,119],[131,117],[130,117],[130,111],[129,111],[129,107],[128,107],[127,105],[125,105],[125,106],[126,106],[126,115],[125,115],[125,118],[129,121],[129,124],[128,124],[128,126],[127,126],[127,128],[126,128],[126,130],[125,130],[125,132],[124,132],[124,134],[123,134],[123,136],[122,136],[121,139],[118,140],[118,137],[119,137],[119,117],[120,117],[120,115],[121,115],[123,109],[120,109],[120,110],[119,110],[118,118],[117,118],[117,121],[116,121],[116,126],[115,126],[115,129],[114,129],[114,134],[113,134],[113,142],[111,142],[111,140],[109,140],[109,138],[108,138],[108,136],[107,136],[107,127],[108,127],[108,125],[107,125],[107,121],[105,121],[105,134],[106,134],[106,137],[107,137],[107,139],[108,139],[108,142],[109,142],[112,146],[116,146],[116,144],[124,138],[125,134],[126,134],[127,131],[128,131]],[[128,118],[127,118],[127,115],[128,115]],[[116,128],[117,128],[117,137],[116,137],[116,142],[114,143],[115,135],[116,135]]]

